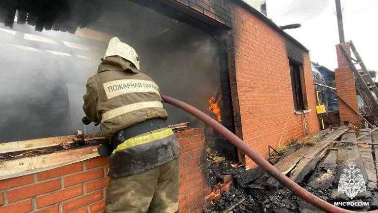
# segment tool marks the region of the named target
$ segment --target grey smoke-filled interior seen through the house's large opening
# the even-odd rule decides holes
[[[70,4],[77,2],[82,1]],[[74,8],[80,9],[80,5]],[[107,1],[91,11],[75,17],[77,22],[91,21],[83,28],[80,24],[74,30],[66,28],[71,33],[59,31],[61,28],[45,30],[46,26],[36,31],[28,21],[17,23],[18,16],[27,17],[20,10],[16,10],[12,28],[0,24],[0,141],[84,129],[85,84],[95,75],[112,37],[134,47],[141,72],[157,82],[162,94],[208,111],[208,100],[221,91],[218,44],[208,33],[129,1]],[[1,13],[9,11],[0,10],[4,17]],[[164,107],[168,123],[198,123],[179,109]],[[86,133],[98,131],[93,125],[86,127]]]

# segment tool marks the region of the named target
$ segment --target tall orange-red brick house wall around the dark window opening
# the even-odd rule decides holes
[[[268,145],[305,136],[303,115],[294,114],[289,58],[303,65],[303,94],[312,110],[305,114],[308,132],[319,130],[310,56],[248,9],[235,5],[234,10],[229,55],[235,117],[240,113],[238,136],[266,157]],[[246,157],[246,165],[256,164]]]

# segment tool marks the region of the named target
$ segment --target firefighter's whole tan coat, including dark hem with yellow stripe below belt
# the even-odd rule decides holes
[[[83,110],[111,140],[119,130],[153,118],[167,119],[159,87],[120,56],[106,57],[97,74],[88,79]],[[180,155],[170,128],[141,134],[117,146],[110,156],[111,177],[141,173],[170,162]]]

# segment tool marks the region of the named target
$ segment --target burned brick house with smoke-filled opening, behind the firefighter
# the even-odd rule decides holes
[[[0,2],[0,211],[103,209],[108,158],[98,157],[99,139],[83,136],[99,129],[83,126],[81,106],[115,36],[136,49],[162,94],[208,112],[263,157],[319,131],[309,51],[251,2]],[[256,164],[193,116],[165,108],[168,123],[192,127],[176,132],[179,210],[197,212],[230,186],[212,191],[207,138],[238,165]]]

